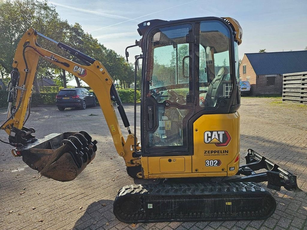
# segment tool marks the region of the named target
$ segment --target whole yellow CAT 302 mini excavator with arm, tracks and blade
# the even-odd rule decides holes
[[[75,179],[95,157],[96,140],[85,132],[37,139],[26,128],[38,59],[44,58],[82,79],[95,92],[116,151],[133,178],[165,178],[157,184],[127,185],[114,201],[115,216],[126,223],[265,219],[276,201],[267,187],[299,191],[296,176],[249,149],[239,166],[239,54],[242,28],[230,18],[150,20],[138,25],[135,83],[141,84],[141,143],[130,130],[114,81],[101,62],[29,29],[21,38],[8,84],[3,143],[41,175]],[[80,63],[42,48],[37,37],[77,57]],[[137,79],[142,59],[142,79]],[[134,87],[136,90],[136,86]],[[77,99],[76,99],[77,100]],[[134,94],[136,104],[136,93]],[[118,108],[129,135],[119,127]],[[28,111],[28,112],[27,112]],[[261,170],[261,172],[257,172]],[[209,178],[209,179],[208,179]]]

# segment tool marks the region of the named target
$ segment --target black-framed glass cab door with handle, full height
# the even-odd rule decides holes
[[[192,154],[188,121],[195,110],[194,49],[192,23],[160,27],[148,37],[141,105],[144,155]]]

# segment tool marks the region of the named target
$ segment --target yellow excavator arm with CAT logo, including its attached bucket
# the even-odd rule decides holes
[[[47,39],[59,48],[79,58],[86,65],[80,65],[44,48],[37,43],[37,37]],[[44,58],[58,67],[68,71],[86,82],[95,92],[115,148],[125,159],[126,166],[138,166],[140,160],[133,157],[131,145],[134,135],[130,132],[129,121],[126,117],[119,95],[115,89],[113,79],[99,61],[79,52],[61,42],[29,29],[22,36],[14,57],[13,71],[9,90],[9,108],[7,120],[1,125],[9,134],[9,143],[15,147],[14,156],[22,156],[23,161],[42,175],[58,181],[73,180],[80,174],[88,163],[95,157],[97,141],[92,140],[87,132],[65,132],[51,134],[44,139],[37,140],[34,128],[24,126],[28,102],[31,97],[33,80],[35,78],[39,58]],[[112,101],[112,100],[113,101]],[[15,101],[15,108],[12,103]],[[129,135],[127,140],[122,136],[113,102],[116,102]]]

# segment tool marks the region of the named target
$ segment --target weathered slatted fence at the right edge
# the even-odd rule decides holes
[[[307,72],[283,74],[282,102],[307,105]]]

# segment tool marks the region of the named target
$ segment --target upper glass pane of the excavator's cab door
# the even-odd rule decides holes
[[[191,77],[191,57],[187,36],[192,25],[176,25],[160,28],[153,32],[147,59],[147,96],[159,103],[169,100],[186,105]]]

